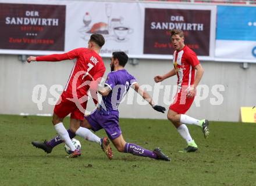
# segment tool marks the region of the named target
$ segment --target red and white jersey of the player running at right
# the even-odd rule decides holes
[[[182,86],[194,85],[195,65],[200,64],[197,55],[188,46],[184,46],[182,50],[173,53],[173,65],[177,74],[178,92]]]

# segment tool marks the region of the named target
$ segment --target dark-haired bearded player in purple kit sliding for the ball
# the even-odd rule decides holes
[[[136,144],[126,143],[123,138],[119,126],[118,105],[121,103],[130,87],[133,87],[136,92],[141,94],[143,99],[148,101],[154,110],[162,113],[165,111],[164,107],[156,105],[154,101],[152,101],[152,98],[147,92],[140,89],[134,76],[130,75],[129,72],[125,70],[124,67],[127,61],[128,56],[125,52],[113,52],[111,57],[111,72],[108,74],[105,87],[98,91],[102,95],[102,102],[93,114],[85,116],[81,127],[92,129],[94,132],[104,129],[119,152],[170,161],[170,158],[163,154],[160,148],[155,148],[154,151],[150,151]],[[105,153],[108,154],[108,152]]]

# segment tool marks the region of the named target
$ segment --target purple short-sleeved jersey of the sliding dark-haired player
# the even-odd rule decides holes
[[[136,83],[136,79],[125,69],[110,72],[106,78],[105,86],[108,86],[112,91],[108,96],[102,96],[102,108],[105,111],[118,111],[118,105],[134,83]]]

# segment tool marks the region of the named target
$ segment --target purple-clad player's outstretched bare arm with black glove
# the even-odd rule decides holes
[[[148,101],[148,103],[152,106],[152,108],[154,108],[154,110],[158,111],[158,112],[162,112],[165,113],[165,107],[162,107],[160,105],[156,105],[154,103],[154,101],[152,100],[150,94],[147,93],[147,91],[143,90],[140,88],[140,85],[138,85],[138,83],[134,83],[131,86],[138,94],[140,94],[144,100]]]

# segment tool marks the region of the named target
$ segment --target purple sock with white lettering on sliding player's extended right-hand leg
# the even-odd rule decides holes
[[[125,153],[157,159],[157,155],[154,152],[132,143],[125,144]]]

